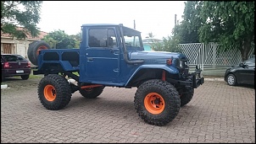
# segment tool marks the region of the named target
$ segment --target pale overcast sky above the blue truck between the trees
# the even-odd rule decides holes
[[[64,30],[76,35],[82,24],[124,24],[162,39],[171,35],[176,19],[181,22],[185,1],[43,1],[37,27],[44,32]]]

